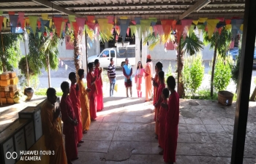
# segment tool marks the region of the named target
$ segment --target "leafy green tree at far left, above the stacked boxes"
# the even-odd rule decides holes
[[[21,34],[1,34],[0,36],[0,68],[2,71],[18,67],[20,60],[20,40]]]

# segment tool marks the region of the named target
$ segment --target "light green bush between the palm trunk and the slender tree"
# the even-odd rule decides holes
[[[204,66],[202,63],[202,55],[194,55],[184,60],[184,88],[186,92],[190,91],[193,96],[203,81]]]

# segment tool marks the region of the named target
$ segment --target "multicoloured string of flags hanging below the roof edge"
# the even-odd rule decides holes
[[[75,36],[83,34],[85,27],[94,31],[94,34],[105,34],[106,36],[113,35],[113,29],[116,30],[116,38],[121,36],[123,41],[129,30],[131,34],[137,35],[140,39],[142,36],[146,37],[147,34],[167,36],[172,31],[175,32],[177,39],[181,36],[184,38],[187,34],[191,33],[195,28],[200,31],[204,30],[208,32],[208,37],[214,34],[214,32],[222,32],[222,28],[227,29],[232,33],[232,36],[242,34],[243,31],[243,19],[240,17],[233,17],[232,19],[225,19],[225,17],[216,17],[215,19],[208,19],[208,17],[199,17],[198,20],[184,19],[181,21],[165,19],[160,20],[160,24],[157,24],[157,17],[135,17],[135,20],[130,20],[128,17],[119,17],[118,25],[115,16],[106,16],[105,18],[95,19],[94,15],[88,15],[86,18],[75,17],[75,15],[68,15],[62,17],[61,15],[53,15],[52,18],[48,17],[48,14],[42,14],[41,17],[29,16],[25,17],[24,12],[9,12],[9,17],[3,17],[0,11],[0,25],[4,24],[4,28],[7,28],[7,22],[10,22],[12,33],[17,33],[18,29],[25,29],[28,33],[36,34],[35,31],[40,31],[38,34],[42,34],[45,28],[49,28],[56,32],[58,36],[64,34],[66,30],[74,31]],[[132,23],[132,24],[131,24]],[[67,28],[66,28],[67,27]],[[1,31],[2,26],[0,26]],[[86,28],[87,29],[87,28]]]

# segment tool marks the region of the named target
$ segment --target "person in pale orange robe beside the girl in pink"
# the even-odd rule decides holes
[[[145,85],[146,85],[146,101],[151,101],[151,96],[152,96],[152,84],[151,84],[151,74],[152,74],[152,60],[151,60],[151,55],[147,55],[147,60],[146,60],[146,67],[144,69],[145,73]]]

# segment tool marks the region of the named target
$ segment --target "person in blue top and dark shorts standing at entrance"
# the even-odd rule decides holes
[[[127,98],[129,97],[128,88],[132,97],[132,66],[129,65],[128,58],[125,59],[125,65],[123,66],[123,74],[124,74],[124,85],[127,88]]]

